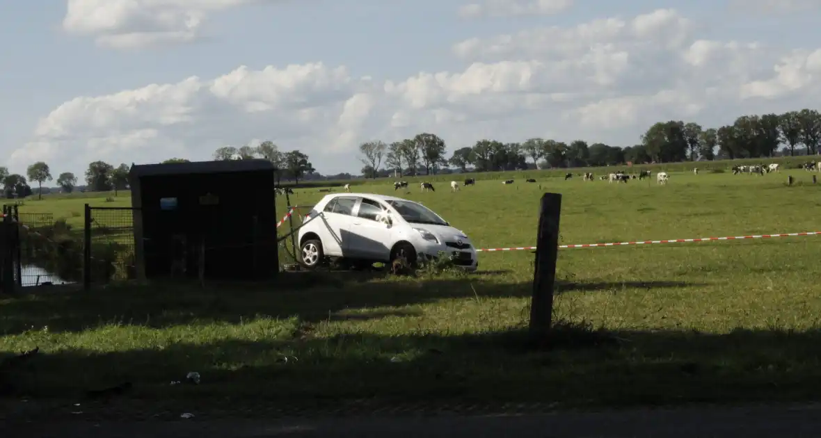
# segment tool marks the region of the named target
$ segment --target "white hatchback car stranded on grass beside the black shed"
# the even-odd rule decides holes
[[[447,253],[467,271],[479,267],[476,249],[461,230],[420,203],[382,194],[328,194],[299,230],[300,263],[326,258],[373,264],[404,257],[410,263]],[[310,221],[310,222],[309,222]]]

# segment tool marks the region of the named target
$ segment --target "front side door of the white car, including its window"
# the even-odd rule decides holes
[[[352,217],[350,249],[358,258],[388,260],[391,252],[391,226],[378,218],[386,209],[381,203],[370,198],[360,198],[359,208]]]

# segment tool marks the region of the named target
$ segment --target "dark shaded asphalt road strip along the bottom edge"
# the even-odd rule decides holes
[[[2,431],[2,426],[0,426]],[[681,408],[479,417],[358,417],[265,422],[204,417],[174,422],[60,422],[8,427],[2,436],[105,438],[708,438],[819,437],[821,405]]]

